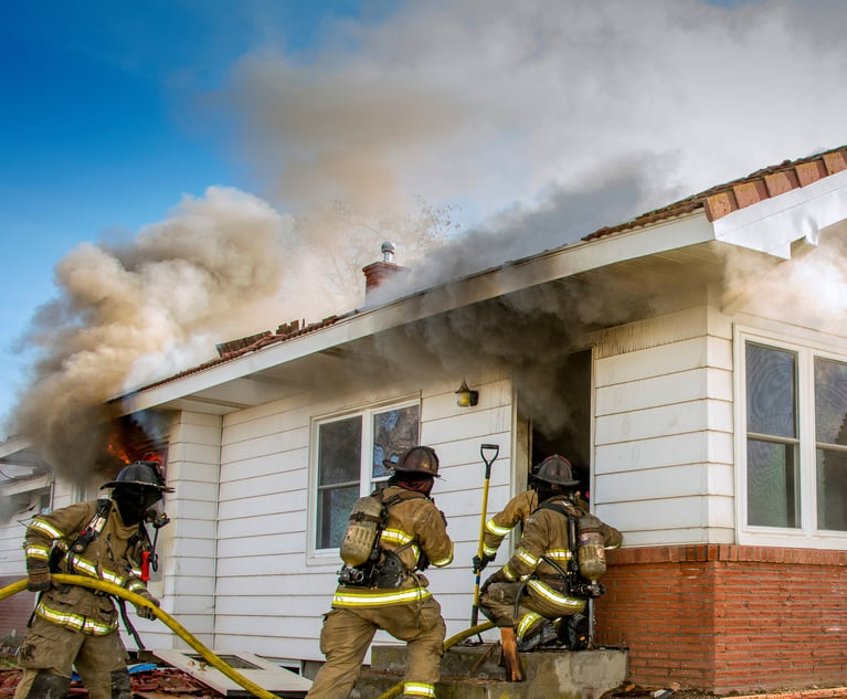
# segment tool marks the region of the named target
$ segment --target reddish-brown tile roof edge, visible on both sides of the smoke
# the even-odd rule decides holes
[[[581,240],[592,242],[635,229],[646,227],[656,223],[677,219],[702,210],[708,221],[713,222],[733,211],[744,209],[754,203],[773,199],[820,179],[847,170],[847,145],[824,152],[807,156],[796,160],[784,160],[780,165],[769,166],[730,182],[711,187],[702,192],[687,197],[677,202],[640,214],[635,219],[617,225],[604,226]],[[315,332],[335,325],[339,320],[350,318],[359,311],[353,310],[343,315],[324,318],[319,322],[306,324],[294,320],[280,325],[276,331],[258,332],[218,346],[220,357],[205,363],[187,369],[161,381],[150,383],[139,390],[159,386],[187,375],[203,371],[211,367],[232,361],[250,352],[263,349],[269,345],[286,342],[297,337]]]

